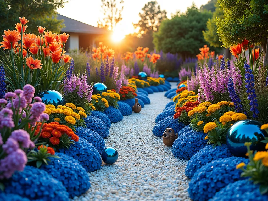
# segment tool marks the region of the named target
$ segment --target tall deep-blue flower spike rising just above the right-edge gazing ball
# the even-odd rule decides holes
[[[250,66],[245,62],[244,64],[244,68],[245,68],[245,87],[247,88],[247,94],[248,94],[248,100],[250,100],[250,111],[253,112],[252,117],[256,118],[258,117],[258,103],[257,103],[257,99],[256,99],[256,94],[255,94],[255,79],[254,79],[254,75],[252,74],[252,70],[250,69]]]

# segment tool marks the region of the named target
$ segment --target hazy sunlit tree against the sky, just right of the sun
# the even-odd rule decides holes
[[[156,32],[163,20],[167,18],[167,12],[160,10],[157,1],[150,1],[142,8],[143,13],[139,13],[139,23],[133,24],[134,28],[139,28],[139,34]]]

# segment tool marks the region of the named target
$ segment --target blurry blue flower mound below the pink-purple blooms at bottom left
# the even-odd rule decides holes
[[[46,171],[25,166],[23,172],[15,172],[6,180],[5,193],[17,194],[29,200],[68,201],[69,194],[62,183]],[[10,199],[8,199],[10,200]]]

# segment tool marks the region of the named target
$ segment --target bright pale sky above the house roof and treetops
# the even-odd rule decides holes
[[[117,0],[119,2],[119,0]],[[124,9],[122,11],[122,20],[117,24],[115,32],[124,36],[128,33],[134,33],[135,29],[132,23],[139,21],[139,13],[142,12],[143,6],[149,0],[124,0]],[[177,11],[185,12],[192,2],[200,8],[201,5],[207,3],[208,0],[157,0],[161,10],[167,11],[170,18],[172,13]],[[83,23],[97,26],[99,18],[103,17],[101,10],[101,0],[69,0],[64,8],[60,8],[57,12],[63,16],[73,18]]]

